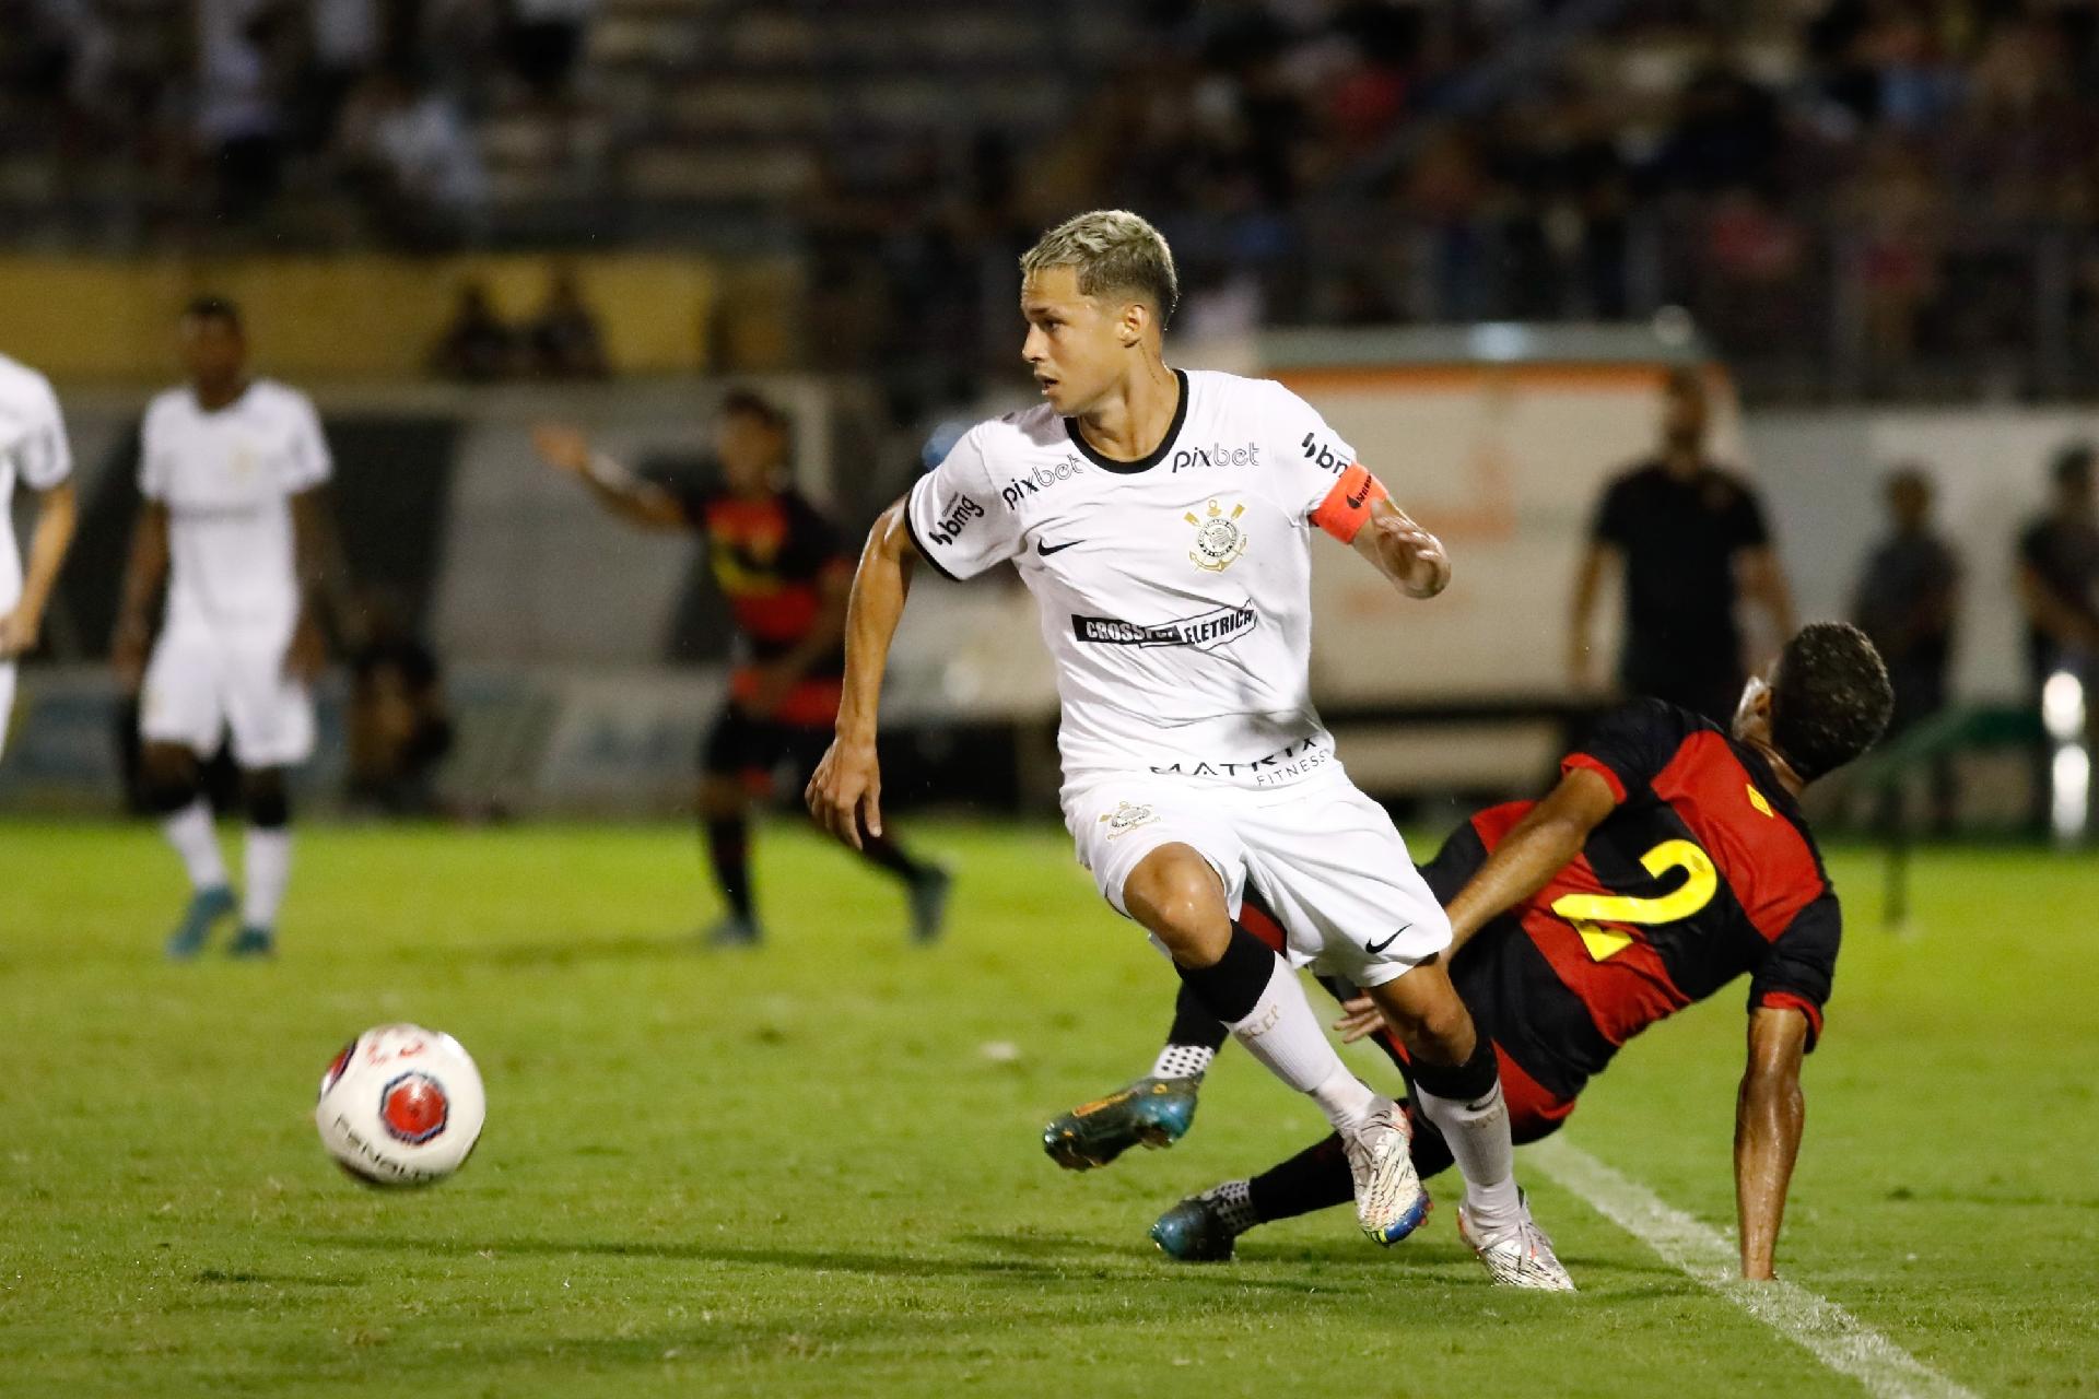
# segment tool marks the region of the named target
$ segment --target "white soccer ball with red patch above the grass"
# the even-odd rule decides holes
[[[313,1120],[336,1164],[367,1185],[434,1185],[466,1164],[487,1118],[466,1047],[422,1026],[376,1026],[321,1074]]]

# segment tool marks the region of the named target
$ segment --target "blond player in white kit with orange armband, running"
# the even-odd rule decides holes
[[[1467,1221],[1518,1242],[1530,1286],[1570,1290],[1515,1189],[1494,1051],[1442,959],[1448,919],[1310,698],[1312,529],[1415,598],[1448,583],[1442,545],[1280,384],[1165,363],[1173,258],[1136,214],[1081,214],[1020,271],[1022,359],[1045,403],[972,428],[875,522],[810,810],[848,843],[882,831],[875,711],[911,562],[966,579],[1010,560],[1058,663],[1064,824],[1108,904],[1320,1105],[1358,1223],[1392,1244],[1427,1214],[1408,1120],[1341,1063],[1295,967],[1362,986],[1421,1068]],[[1289,959],[1234,923],[1249,894]]]

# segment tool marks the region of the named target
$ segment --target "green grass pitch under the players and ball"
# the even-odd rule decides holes
[[[1173,1152],[1058,1172],[1041,1122],[1144,1070],[1171,977],[1060,831],[915,835],[961,875],[930,950],[798,828],[749,954],[693,948],[682,828],[315,828],[275,965],[170,967],[149,828],[0,824],[0,1393],[1864,1393],[1536,1172],[1576,1298],[1490,1290],[1450,1208],[1165,1263],[1161,1208],[1316,1114],[1228,1051]],[[1971,1391],[2099,1393],[2099,866],[1925,854],[1902,942],[1874,858],[1832,873],[1784,1273]],[[487,1076],[439,1189],[361,1189],[313,1133],[386,1019]],[[1650,1034],[1568,1139],[1732,1233],[1740,1032],[1727,992]]]

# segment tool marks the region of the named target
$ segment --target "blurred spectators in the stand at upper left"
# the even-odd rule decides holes
[[[52,206],[107,201],[147,243],[288,208],[306,241],[479,241],[479,126],[567,101],[594,8],[0,0],[0,159]]]

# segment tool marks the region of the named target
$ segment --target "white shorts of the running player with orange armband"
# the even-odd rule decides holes
[[[1381,986],[1450,946],[1450,919],[1406,841],[1339,763],[1268,791],[1148,772],[1087,780],[1064,795],[1064,824],[1125,917],[1129,873],[1180,843],[1217,870],[1234,919],[1249,889],[1268,904],[1297,967]]]

